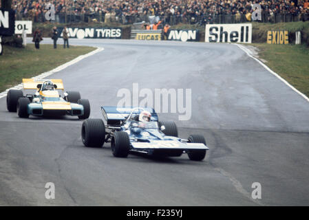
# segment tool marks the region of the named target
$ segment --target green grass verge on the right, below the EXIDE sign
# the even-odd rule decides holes
[[[266,65],[309,97],[309,50],[306,45],[253,43]]]

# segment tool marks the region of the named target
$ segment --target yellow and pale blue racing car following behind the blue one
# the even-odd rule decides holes
[[[23,96],[23,91],[10,89],[6,97],[8,111],[17,111],[20,118],[28,118],[29,115],[72,115],[80,119],[89,118],[89,100],[81,99],[78,91],[67,91],[61,97],[58,90],[64,88],[60,79],[23,78],[23,89],[36,89],[36,92]]]

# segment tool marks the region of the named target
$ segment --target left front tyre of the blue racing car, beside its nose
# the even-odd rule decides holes
[[[125,131],[116,131],[111,138],[111,151],[115,157],[127,157],[130,149],[129,135]]]

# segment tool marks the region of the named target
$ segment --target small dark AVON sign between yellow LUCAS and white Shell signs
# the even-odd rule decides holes
[[[169,41],[199,41],[198,30],[169,30],[168,38]]]

